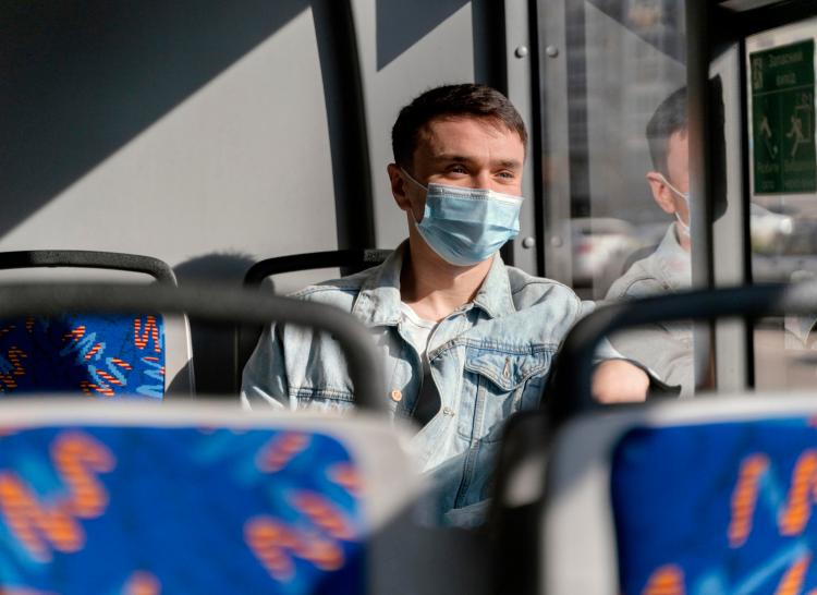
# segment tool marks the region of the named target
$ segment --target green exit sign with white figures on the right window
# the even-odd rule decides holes
[[[749,54],[755,194],[817,191],[814,40]]]

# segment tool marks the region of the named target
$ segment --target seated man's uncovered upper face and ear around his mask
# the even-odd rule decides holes
[[[525,147],[520,135],[481,118],[431,120],[420,132],[408,173],[423,185],[448,184],[522,194]],[[389,167],[394,199],[401,209],[423,219],[425,191]]]

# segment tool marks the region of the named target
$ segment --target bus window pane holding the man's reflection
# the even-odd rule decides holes
[[[559,4],[539,2],[545,274],[597,301],[688,289],[685,3]],[[674,324],[611,340],[687,396],[692,335]]]

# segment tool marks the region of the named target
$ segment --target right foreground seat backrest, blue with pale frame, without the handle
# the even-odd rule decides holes
[[[817,403],[709,399],[588,416],[548,471],[548,594],[809,593]]]

